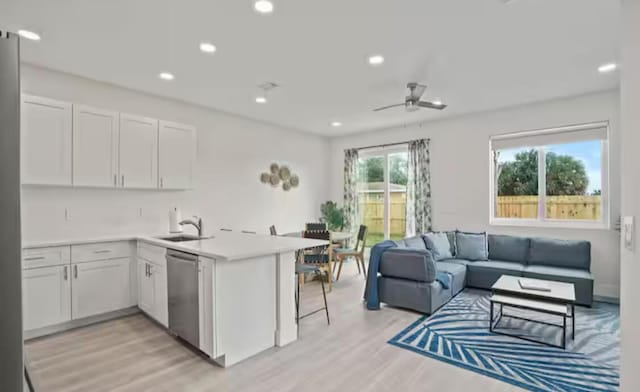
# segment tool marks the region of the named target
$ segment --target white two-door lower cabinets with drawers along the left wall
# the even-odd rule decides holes
[[[25,249],[25,331],[135,306],[130,242]],[[34,331],[37,336],[41,331]]]

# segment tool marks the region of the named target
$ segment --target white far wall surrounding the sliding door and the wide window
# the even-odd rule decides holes
[[[331,195],[342,200],[344,149],[417,138],[431,139],[435,229],[487,230],[592,243],[596,295],[619,296],[619,234],[613,230],[540,229],[489,225],[489,137],[561,125],[610,121],[611,216],[619,205],[619,95],[617,91],[476,113],[331,140]]]

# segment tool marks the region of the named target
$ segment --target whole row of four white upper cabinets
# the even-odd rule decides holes
[[[191,189],[196,129],[22,95],[22,183]]]

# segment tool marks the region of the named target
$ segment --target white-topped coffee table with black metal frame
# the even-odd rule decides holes
[[[549,291],[523,289],[520,287],[520,279],[526,279],[542,283],[549,288]],[[489,331],[499,335],[512,336],[523,340],[546,344],[548,346],[566,348],[567,345],[567,319],[571,319],[571,339],[575,339],[575,302],[576,294],[573,283],[554,282],[541,279],[522,278],[520,276],[502,275],[491,287],[490,310],[489,310]],[[494,322],[494,304],[500,305],[499,314]],[[504,307],[533,310],[545,314],[562,317],[562,325],[548,323],[545,321],[531,320],[516,315],[506,315]],[[496,331],[495,328],[503,317],[516,318],[533,323],[540,323],[562,328],[562,344],[554,344],[541,340],[532,339],[525,336]]]

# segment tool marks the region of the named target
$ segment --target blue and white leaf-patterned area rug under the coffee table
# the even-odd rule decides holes
[[[559,316],[506,307],[504,313],[562,324]],[[619,307],[576,307],[576,321],[576,338],[567,333],[566,350],[492,334],[488,292],[465,290],[389,343],[531,391],[618,391]],[[503,332],[553,344],[562,334],[560,328],[519,319],[503,318],[499,325]]]

